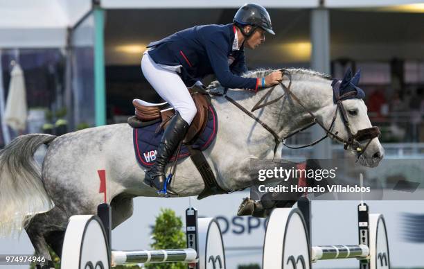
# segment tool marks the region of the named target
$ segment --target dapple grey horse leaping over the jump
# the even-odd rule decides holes
[[[261,77],[269,71],[256,71],[245,76]],[[319,121],[330,126],[335,110],[330,77],[305,69],[288,69],[291,91],[302,100]],[[350,78],[349,78],[350,79]],[[288,79],[284,77],[283,84]],[[240,105],[250,109],[265,94],[230,89],[227,93]],[[283,94],[277,85],[269,100]],[[252,184],[249,160],[274,156],[274,138],[254,119],[222,96],[212,98],[218,114],[219,130],[213,144],[204,151],[218,184],[234,191]],[[342,104],[348,112],[352,132],[371,127],[366,105],[361,99]],[[254,114],[281,137],[302,128],[312,120],[290,96],[261,108]],[[337,117],[333,132],[347,139],[342,119]],[[136,162],[132,128],[127,124],[105,125],[71,132],[60,137],[50,134],[27,134],[14,139],[0,155],[0,232],[10,234],[25,228],[35,251],[49,257],[47,245],[61,253],[68,218],[76,214],[96,214],[103,202],[99,193],[98,170],[107,175],[107,202],[112,205],[113,227],[132,215],[132,198],[157,196],[143,184],[145,171]],[[48,146],[42,167],[33,159],[35,150]],[[372,139],[359,163],[377,166],[384,150],[378,138]],[[196,196],[204,182],[191,159],[179,161],[172,188],[179,196]]]

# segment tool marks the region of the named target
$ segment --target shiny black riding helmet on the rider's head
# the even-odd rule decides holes
[[[274,31],[272,31],[270,15],[263,6],[256,3],[245,3],[244,6],[237,10],[233,22],[241,27],[245,25],[260,27],[268,33],[275,35]]]

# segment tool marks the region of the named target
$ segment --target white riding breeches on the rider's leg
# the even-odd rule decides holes
[[[177,71],[171,70],[173,67],[166,67],[157,64],[145,52],[141,59],[141,71],[150,85],[166,102],[170,103],[188,124],[193,121],[196,115],[196,106],[190,93]]]

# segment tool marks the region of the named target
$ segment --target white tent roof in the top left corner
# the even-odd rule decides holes
[[[67,28],[89,10],[90,0],[2,0],[0,49],[64,47]]]

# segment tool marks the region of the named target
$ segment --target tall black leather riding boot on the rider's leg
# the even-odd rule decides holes
[[[166,175],[164,172],[165,166],[177,149],[179,142],[186,136],[188,126],[188,123],[179,115],[179,112],[176,112],[173,119],[170,120],[169,125],[166,127],[161,143],[157,148],[156,161],[152,168],[145,173],[145,184],[153,186],[158,191],[164,189],[164,184],[166,182]],[[177,193],[172,191],[169,186],[167,192],[171,196],[177,196]]]

